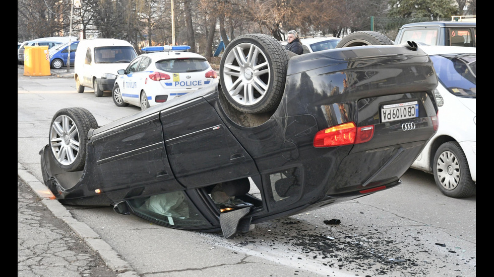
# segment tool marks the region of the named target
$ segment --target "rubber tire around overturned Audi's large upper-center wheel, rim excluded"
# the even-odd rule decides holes
[[[272,36],[268,36],[265,34],[242,35],[231,41],[226,47],[220,63],[220,76],[223,76],[223,68],[227,53],[229,53],[236,45],[245,42],[256,44],[260,48],[265,49],[265,51],[263,52],[266,55],[268,62],[270,62],[269,66],[272,70],[270,72],[272,83],[268,84],[267,90],[267,93],[269,95],[265,97],[265,99],[261,102],[261,105],[254,109],[251,109],[250,107],[238,106],[238,104],[231,99],[227,91],[223,89],[222,91],[228,103],[230,103],[230,105],[236,110],[247,114],[266,113],[278,107],[281,98],[283,97],[289,56],[287,51]],[[226,87],[226,85],[222,79],[223,78],[220,77],[221,86],[222,88],[224,88]]]

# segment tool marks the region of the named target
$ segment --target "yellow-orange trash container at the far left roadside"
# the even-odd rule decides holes
[[[24,75],[25,76],[49,76],[50,57],[48,46],[24,47]]]

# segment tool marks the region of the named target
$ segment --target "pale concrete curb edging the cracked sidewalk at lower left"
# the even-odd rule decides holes
[[[111,248],[93,229],[87,224],[77,221],[63,205],[58,202],[53,194],[24,166],[17,163],[17,176],[21,178],[39,198],[41,203],[58,219],[63,220],[91,249],[96,251],[103,259],[106,266],[118,272],[119,277],[138,277],[132,266],[123,260],[118,253]]]

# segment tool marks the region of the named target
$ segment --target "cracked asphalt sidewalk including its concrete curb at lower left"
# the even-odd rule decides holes
[[[138,276],[129,263],[85,223],[74,219],[19,163],[17,275]]]

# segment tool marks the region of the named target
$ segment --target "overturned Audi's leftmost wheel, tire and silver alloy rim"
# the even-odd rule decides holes
[[[76,108],[61,109],[53,116],[50,126],[48,145],[58,167],[66,171],[84,169],[91,128],[86,114]]]

